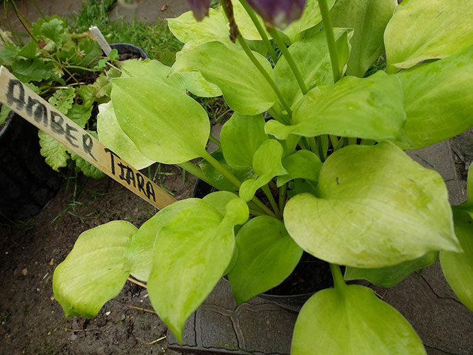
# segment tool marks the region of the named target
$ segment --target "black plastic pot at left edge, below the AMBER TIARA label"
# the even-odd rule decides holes
[[[0,217],[36,215],[56,195],[60,181],[40,155],[38,129],[11,112],[0,131]]]

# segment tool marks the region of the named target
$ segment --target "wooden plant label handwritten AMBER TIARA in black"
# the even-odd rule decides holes
[[[4,66],[0,67],[0,101],[153,206],[164,208],[176,201],[16,79]]]

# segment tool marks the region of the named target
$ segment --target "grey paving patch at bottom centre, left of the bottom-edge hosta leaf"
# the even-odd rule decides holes
[[[298,310],[260,297],[237,306],[230,283],[222,279],[184,326],[183,346],[171,332],[168,346],[209,354],[289,354]]]

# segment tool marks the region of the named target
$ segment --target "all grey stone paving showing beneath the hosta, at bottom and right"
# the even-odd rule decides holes
[[[448,142],[407,154],[440,173],[446,181],[450,203],[465,200],[465,185],[457,179]],[[370,286],[408,319],[428,355],[473,354],[473,313],[454,295],[439,262],[424,269],[421,276],[413,274],[390,289]],[[286,355],[291,350],[297,313],[297,307],[260,297],[237,307],[230,285],[221,280],[186,323],[182,346],[168,332],[169,349],[193,354]]]

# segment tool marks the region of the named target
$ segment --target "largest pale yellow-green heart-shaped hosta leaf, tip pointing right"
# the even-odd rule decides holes
[[[302,249],[339,265],[387,267],[460,250],[440,175],[386,142],[329,156],[315,195],[290,199],[284,221]]]

